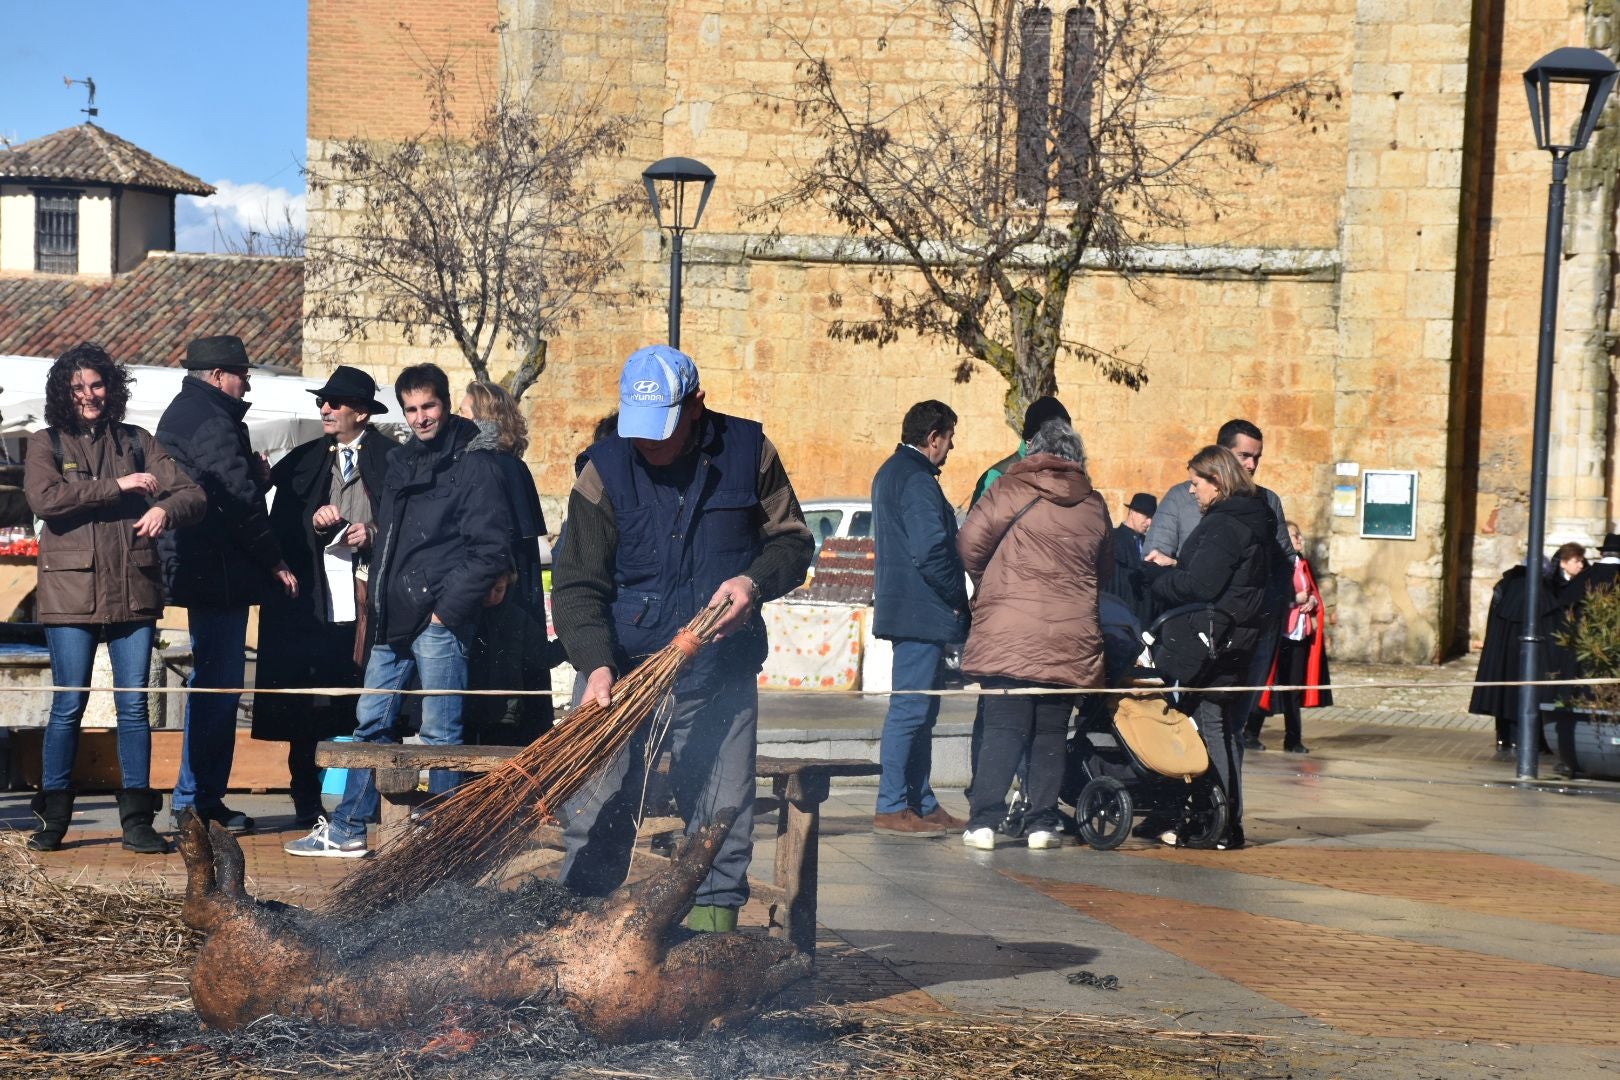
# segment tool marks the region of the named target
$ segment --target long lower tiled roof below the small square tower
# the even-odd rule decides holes
[[[235,334],[259,364],[303,363],[303,259],[152,251],[110,282],[0,277],[0,355],[97,342],[130,364],[175,368],[186,342]]]

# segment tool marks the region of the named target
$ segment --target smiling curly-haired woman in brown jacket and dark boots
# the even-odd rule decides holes
[[[146,431],[125,424],[130,374],[100,345],[75,345],[45,377],[45,423],[28,440],[28,505],[39,536],[39,620],[58,687],[89,687],[97,641],[107,643],[117,687],[146,687],[164,575],[157,538],[202,517],[204,495]],[[28,845],[62,847],[73,818],[73,759],[89,695],[58,690],[45,725],[45,763]],[[118,711],[118,819],[123,845],[160,855],[152,829],[162,805],[151,790],[152,735],[146,695],[113,695]]]

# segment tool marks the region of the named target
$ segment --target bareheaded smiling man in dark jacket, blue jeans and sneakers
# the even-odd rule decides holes
[[[507,500],[494,450],[471,449],[478,424],[450,411],[450,382],[437,364],[415,364],[394,381],[410,442],[389,458],[382,504],[371,531],[368,690],[403,690],[411,675],[423,690],[465,690],[467,649],[480,609],[512,568]],[[400,698],[374,695],[356,708],[355,738],[399,742]],[[421,742],[462,742],[462,698],[421,703]],[[455,772],[434,771],[428,790],[447,792]],[[288,855],[363,858],[366,823],[377,813],[369,769],[350,769],[343,801],[330,823],[284,845]]]

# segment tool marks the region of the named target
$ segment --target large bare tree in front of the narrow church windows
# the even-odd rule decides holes
[[[1315,131],[1312,108],[1336,89],[1251,79],[1234,100],[1187,112],[1165,91],[1189,66],[1192,32],[1213,18],[1199,5],[1087,0],[1055,31],[1043,3],[927,2],[977,78],[923,86],[899,104],[894,76],[846,76],[847,63],[787,31],[800,57],[791,104],[820,151],[752,217],[804,204],[831,214],[849,254],[873,264],[876,317],[836,319],[829,335],[956,343],[959,382],[974,361],[1006,379],[1014,429],[1029,402],[1056,392],[1064,353],[1139,387],[1140,364],[1064,338],[1074,279],[1102,269],[1136,287],[1132,256],[1215,207],[1202,176],[1217,154],[1260,165],[1264,125]]]

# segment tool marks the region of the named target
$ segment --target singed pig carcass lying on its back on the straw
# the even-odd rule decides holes
[[[744,1020],[807,976],[810,957],[774,938],[679,928],[732,818],[601,900],[554,882],[442,886],[386,912],[332,918],[254,900],[237,840],[186,814],[185,921],[207,933],[191,972],[198,1015],[217,1028],[269,1014],[399,1028],[450,1001],[556,996],[609,1043]]]

